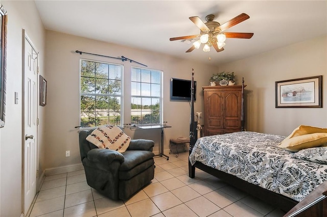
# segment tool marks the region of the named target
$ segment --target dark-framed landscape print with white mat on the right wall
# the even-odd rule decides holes
[[[322,75],[275,82],[276,108],[321,108]]]

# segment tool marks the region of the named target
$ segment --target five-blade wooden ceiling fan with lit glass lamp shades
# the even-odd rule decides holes
[[[210,47],[213,46],[217,52],[223,51],[223,46],[225,45],[226,38],[243,38],[250,39],[253,36],[253,33],[226,33],[225,30],[231,28],[232,26],[247,20],[249,15],[242,13],[231,20],[220,24],[217,21],[214,21],[215,15],[207,15],[203,22],[200,17],[189,17],[189,19],[201,30],[199,35],[190,35],[190,36],[181,36],[170,38],[170,41],[183,40],[183,39],[195,39],[195,41],[186,52],[191,52],[195,48],[199,48],[201,43],[204,44],[203,51],[210,51]]]

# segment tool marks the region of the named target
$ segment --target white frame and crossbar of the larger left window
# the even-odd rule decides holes
[[[99,93],[93,93],[93,94],[89,94],[89,93],[82,93],[81,92],[81,62],[82,61],[89,61],[89,62],[95,62],[95,63],[100,63],[100,64],[107,64],[107,65],[114,65],[114,66],[119,66],[121,67],[121,93],[120,94],[99,94]],[[109,76],[108,76],[108,80]],[[101,61],[101,60],[94,60],[94,59],[86,59],[86,58],[80,58],[79,59],[79,124],[80,124],[80,128],[82,129],[92,129],[92,128],[97,128],[99,126],[87,126],[84,127],[81,124],[81,98],[82,96],[108,96],[108,97],[120,97],[120,124],[119,126],[123,127],[123,123],[124,123],[124,64],[118,64],[118,63],[112,63],[112,62],[106,62],[106,61]],[[95,110],[96,111],[96,110]],[[109,108],[108,108],[108,112],[109,112]]]

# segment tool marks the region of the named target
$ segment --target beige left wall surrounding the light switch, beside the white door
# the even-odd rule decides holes
[[[22,212],[22,29],[40,52],[44,67],[45,30],[33,1],[1,1],[8,12],[6,123],[0,129],[0,216]],[[18,104],[14,103],[18,92]],[[42,109],[40,113],[42,114]],[[40,144],[41,148],[41,144]]]

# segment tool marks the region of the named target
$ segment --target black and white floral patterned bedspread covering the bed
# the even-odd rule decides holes
[[[189,158],[301,201],[327,180],[327,165],[292,158],[277,147],[284,139],[250,131],[212,135],[199,138]]]

